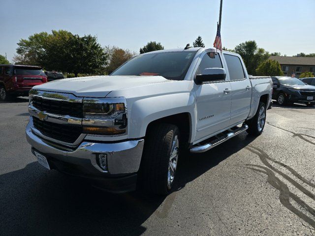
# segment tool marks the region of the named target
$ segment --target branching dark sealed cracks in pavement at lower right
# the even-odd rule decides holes
[[[310,191],[308,191],[307,189],[305,189],[302,185],[300,185],[299,183],[297,183],[295,180],[293,180],[291,177],[288,177],[286,174],[284,174],[283,172],[279,171],[278,169],[276,169],[275,167],[273,167],[268,160],[283,166],[284,168],[286,168],[287,170],[289,170],[293,176],[299,178],[301,181],[303,181],[305,184],[309,185],[309,186],[314,186],[313,183],[311,183],[310,181],[306,180],[304,177],[302,177],[301,175],[299,175],[296,171],[294,171],[292,168],[284,165],[282,162],[276,161],[274,159],[272,159],[266,152],[264,152],[263,150],[261,150],[260,148],[255,148],[252,145],[246,147],[246,149],[248,149],[249,151],[251,151],[252,153],[258,155],[258,157],[260,158],[261,162],[265,165],[265,166],[260,166],[260,165],[253,165],[253,164],[247,164],[247,168],[251,169],[253,171],[257,171],[263,174],[266,174],[268,177],[268,182],[275,187],[276,189],[278,189],[280,191],[279,194],[279,199],[280,202],[284,205],[284,207],[286,207],[287,209],[289,209],[291,212],[293,212],[295,215],[297,215],[298,217],[300,217],[301,219],[303,219],[305,222],[307,222],[308,224],[310,224],[312,227],[314,227],[315,229],[315,221],[314,219],[312,219],[311,217],[309,217],[308,215],[304,214],[302,211],[298,210],[296,207],[293,207],[293,205],[290,203],[289,199],[291,198],[292,200],[294,200],[300,207],[303,207],[305,210],[307,210],[310,214],[312,214],[313,216],[315,216],[315,209],[313,209],[312,207],[310,207],[307,203],[305,203],[303,200],[301,200],[298,196],[296,196],[294,193],[290,192],[288,186],[279,178],[276,177],[275,173],[278,173],[279,175],[281,175],[282,177],[284,177],[287,181],[289,181],[291,184],[293,184],[296,188],[298,188],[300,191],[302,191],[304,194],[306,194],[307,196],[309,196],[310,198],[312,198],[313,200],[315,200],[315,195],[312,194]],[[261,170],[262,169],[262,170]]]

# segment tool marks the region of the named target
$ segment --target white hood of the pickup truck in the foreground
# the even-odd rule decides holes
[[[72,93],[78,97],[105,97],[113,90],[167,82],[171,81],[162,76],[90,76],[55,80],[34,89]]]

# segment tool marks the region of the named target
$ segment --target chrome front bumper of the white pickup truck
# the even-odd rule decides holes
[[[82,143],[74,149],[63,148],[58,144],[51,143],[45,139],[39,138],[33,133],[32,119],[26,127],[27,141],[43,155],[49,158],[55,158],[66,163],[78,164],[85,163],[87,169],[92,169],[96,174],[119,175],[135,173],[139,170],[144,139],[132,140],[121,143]],[[107,154],[108,171],[103,171],[96,162],[98,154]],[[92,171],[92,172],[93,172]],[[91,174],[91,172],[89,173]]]

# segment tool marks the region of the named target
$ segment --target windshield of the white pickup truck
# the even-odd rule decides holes
[[[130,59],[111,75],[160,75],[183,80],[196,52],[150,53]]]

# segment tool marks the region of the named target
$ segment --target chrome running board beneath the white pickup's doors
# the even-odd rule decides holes
[[[215,140],[212,140],[211,142],[209,142],[207,144],[203,144],[203,145],[197,144],[197,146],[190,148],[190,152],[199,153],[199,152],[208,151],[211,148],[214,148],[214,147],[218,146],[219,144],[224,143],[226,140],[233,138],[234,136],[244,132],[247,129],[248,129],[247,124],[243,124],[242,127],[239,127],[237,129],[234,129],[234,130],[229,129],[228,130],[229,133],[224,134],[223,136],[221,136]]]

